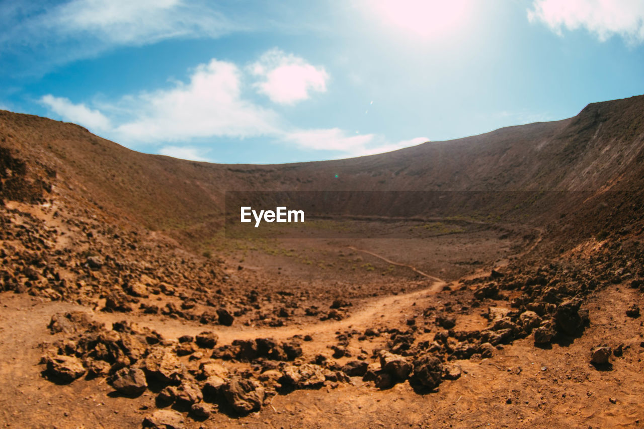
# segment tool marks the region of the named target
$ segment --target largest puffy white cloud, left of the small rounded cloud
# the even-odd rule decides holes
[[[211,60],[175,88],[123,100],[134,117],[115,133],[126,140],[172,141],[194,137],[250,137],[276,133],[279,117],[243,100],[240,73],[231,62]]]

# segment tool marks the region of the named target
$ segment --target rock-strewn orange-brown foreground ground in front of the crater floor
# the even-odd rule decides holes
[[[547,262],[532,251],[403,294],[330,299],[251,287],[258,272],[61,201],[1,211],[5,426],[606,427],[644,417],[637,237]]]

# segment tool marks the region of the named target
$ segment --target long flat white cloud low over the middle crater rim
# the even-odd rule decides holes
[[[294,131],[286,133],[283,139],[305,149],[339,151],[344,157],[362,157],[390,152],[408,146],[416,146],[429,140],[426,137],[417,137],[390,143],[383,137],[374,134],[346,135],[345,131],[339,128]]]

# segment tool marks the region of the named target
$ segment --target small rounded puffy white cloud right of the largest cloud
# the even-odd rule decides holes
[[[258,92],[279,104],[295,104],[310,97],[311,91],[327,91],[328,73],[295,55],[272,49],[250,67],[260,77]]]

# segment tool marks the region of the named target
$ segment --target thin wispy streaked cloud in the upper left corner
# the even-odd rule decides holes
[[[0,7],[0,60],[12,72],[41,74],[118,46],[243,31],[207,1],[71,0],[59,5],[7,0]]]

